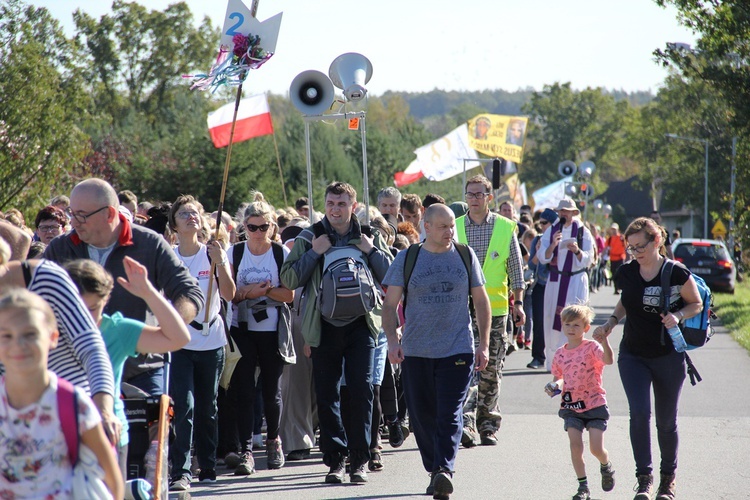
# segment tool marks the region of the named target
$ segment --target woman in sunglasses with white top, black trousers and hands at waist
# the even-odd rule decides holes
[[[257,193],[255,200],[247,206],[243,217],[247,241],[237,243],[229,255],[237,282],[230,334],[242,354],[229,386],[230,397],[237,405],[241,449],[240,464],[234,473],[238,476],[255,472],[252,449],[256,367],[260,368],[266,415],[268,468],[279,469],[284,465],[279,422],[281,374],[285,361],[279,351],[278,330],[279,320],[286,321],[286,304],[294,300],[294,292],[279,281],[281,263],[289,250],[272,240],[276,214],[262,194]],[[239,259],[238,254],[241,254]]]

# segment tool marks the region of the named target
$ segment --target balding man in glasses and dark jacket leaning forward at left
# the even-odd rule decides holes
[[[72,259],[91,259],[104,266],[115,278],[115,288],[104,313],[122,313],[144,323],[146,303],[117,284],[126,278],[123,259],[131,257],[146,266],[148,279],[172,302],[185,324],[203,307],[198,282],[182,265],[169,244],[153,231],[131,224],[120,214],[117,193],[106,181],[86,179],[70,194],[68,215],[73,230],[54,239],[44,258],[58,263]],[[128,360],[123,380],[152,395],[164,392],[164,361],[161,355],[140,355]]]

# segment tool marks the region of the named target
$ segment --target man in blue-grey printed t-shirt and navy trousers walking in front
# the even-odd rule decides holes
[[[427,494],[448,499],[471,373],[483,370],[490,355],[491,307],[479,259],[470,247],[453,241],[453,212],[434,204],[425,212],[424,226],[425,242],[399,252],[385,277],[383,329],[389,360],[401,363],[417,446],[431,477]],[[476,353],[470,296],[479,326]],[[406,316],[401,338],[396,331],[400,301]]]

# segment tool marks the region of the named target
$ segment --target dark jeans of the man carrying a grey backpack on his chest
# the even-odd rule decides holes
[[[341,460],[347,450],[353,469],[370,458],[374,348],[375,339],[364,317],[345,326],[322,322],[320,345],[312,348],[312,360],[320,420],[320,451],[328,466]],[[351,395],[349,434],[341,419],[342,372],[346,374],[346,386]]]

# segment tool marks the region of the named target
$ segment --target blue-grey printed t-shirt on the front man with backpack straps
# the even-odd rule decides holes
[[[485,279],[474,250],[471,253],[473,288],[484,285]],[[404,286],[405,260],[406,252],[396,255],[383,285]],[[409,280],[401,339],[404,356],[434,359],[473,353],[469,294],[466,266],[456,248],[432,253],[422,247]]]

